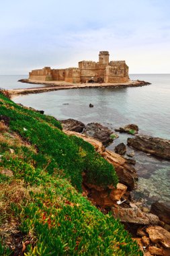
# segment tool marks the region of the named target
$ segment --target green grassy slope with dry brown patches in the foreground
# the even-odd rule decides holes
[[[80,193],[82,172],[89,183],[116,186],[111,164],[54,118],[2,94],[0,115],[9,117],[0,127],[0,255],[9,244],[25,255],[142,255],[122,224]]]

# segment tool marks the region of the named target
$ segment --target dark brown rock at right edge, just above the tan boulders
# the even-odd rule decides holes
[[[170,224],[170,203],[159,203],[158,201],[153,203],[151,213],[159,216],[163,222]]]

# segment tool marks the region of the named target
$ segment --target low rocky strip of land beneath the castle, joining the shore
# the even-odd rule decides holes
[[[27,84],[41,84],[44,87],[37,88],[23,88],[23,89],[13,89],[8,90],[10,96],[15,96],[19,94],[38,94],[42,92],[52,92],[56,90],[69,90],[69,89],[83,89],[83,88],[126,88],[126,87],[138,87],[138,86],[148,86],[149,82],[144,82],[140,80],[130,81],[122,84],[71,84],[68,82],[58,82],[58,81],[32,81],[29,79],[20,79],[19,82],[27,83]]]

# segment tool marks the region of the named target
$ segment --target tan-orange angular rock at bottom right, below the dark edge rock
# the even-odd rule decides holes
[[[161,226],[150,226],[146,232],[153,243],[161,243],[163,247],[170,248],[170,233]]]

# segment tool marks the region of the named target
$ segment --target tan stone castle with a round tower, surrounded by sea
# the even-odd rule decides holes
[[[67,69],[35,69],[29,73],[30,80],[65,81],[71,83],[124,83],[128,82],[128,66],[125,61],[109,61],[109,52],[99,52],[99,62],[80,61],[79,67]]]

